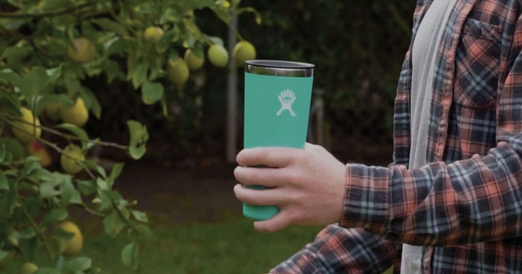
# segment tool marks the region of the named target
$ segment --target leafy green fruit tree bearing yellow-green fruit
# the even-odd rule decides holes
[[[205,59],[218,68],[229,62],[222,39],[199,29],[194,10],[210,9],[216,15],[212,20],[228,25],[234,14],[251,12],[259,23],[257,11],[239,2],[0,3],[0,260],[31,261],[44,253],[48,264],[26,263],[23,271],[97,272],[96,262],[81,256],[81,228],[68,220],[70,208],[78,207],[99,217],[106,234],[129,236],[121,260],[137,268],[136,239],[151,234],[147,214],[114,188],[124,164],[106,169],[89,151],[110,146],[140,159],[149,133],[131,120],[126,121],[128,144],[91,136],[83,126],[103,113],[85,82],[95,76],[107,84],[129,82],[134,90],[128,92],[139,92],[143,104],[160,104],[167,115],[165,98],[173,91],[165,81],[181,88]],[[246,47],[237,50],[239,65],[255,58],[251,44]],[[53,153],[59,165],[51,164]]]

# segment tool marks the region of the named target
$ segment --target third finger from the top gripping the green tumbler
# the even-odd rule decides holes
[[[234,193],[245,204],[254,206],[279,205],[282,201],[280,192],[274,188],[250,189],[238,184],[234,186]]]

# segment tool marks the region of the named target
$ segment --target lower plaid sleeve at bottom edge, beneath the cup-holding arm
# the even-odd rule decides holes
[[[307,244],[270,273],[381,273],[395,262],[400,264],[401,247],[363,229],[329,225],[313,243]]]

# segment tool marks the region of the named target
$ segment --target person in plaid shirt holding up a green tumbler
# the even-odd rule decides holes
[[[236,196],[280,209],[257,230],[338,222],[272,273],[522,272],[521,13],[515,0],[418,0],[387,168],[313,145],[238,154],[238,181],[271,188]]]

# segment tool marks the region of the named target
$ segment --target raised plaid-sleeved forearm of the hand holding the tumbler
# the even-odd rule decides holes
[[[408,170],[348,165],[342,227],[417,245],[522,235],[522,166],[506,143],[487,156]]]

